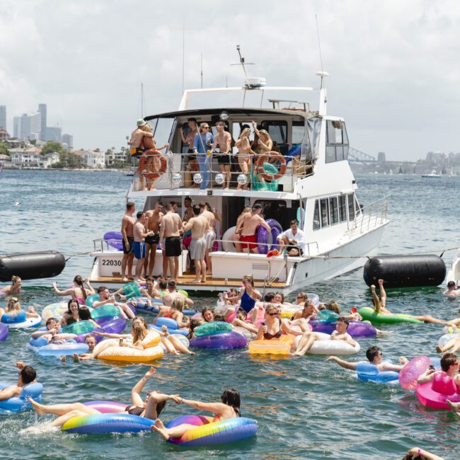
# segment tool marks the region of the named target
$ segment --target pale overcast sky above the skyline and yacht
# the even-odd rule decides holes
[[[460,3],[449,0],[0,0],[0,105],[47,103],[74,148],[119,149],[141,115],[176,110],[183,88],[314,86],[350,145],[391,160],[460,151]],[[317,106],[316,106],[317,108]]]

